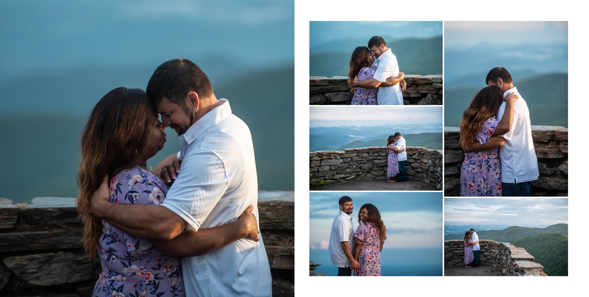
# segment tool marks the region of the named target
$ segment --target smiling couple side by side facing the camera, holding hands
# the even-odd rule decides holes
[[[337,266],[337,276],[380,276],[380,252],[386,239],[386,227],[376,206],[360,207],[358,229],[352,223],[352,198],[339,198],[339,214],[329,236],[329,254]]]

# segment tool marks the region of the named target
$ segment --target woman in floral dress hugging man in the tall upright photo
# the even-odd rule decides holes
[[[488,86],[478,92],[468,109],[462,115],[460,123],[460,145],[464,149],[464,162],[460,171],[461,196],[502,196],[501,159],[499,146],[505,143],[505,129],[511,127],[513,104],[517,100],[514,94],[503,98],[497,86]],[[495,119],[499,106],[505,101],[505,114],[501,121]],[[488,151],[473,151],[475,143],[486,144],[495,138],[497,146]]]

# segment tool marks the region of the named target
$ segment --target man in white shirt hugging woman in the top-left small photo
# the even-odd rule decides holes
[[[405,75],[399,72],[399,64],[397,64],[397,57],[393,55],[390,48],[386,47],[385,39],[380,36],[372,36],[368,41],[368,48],[370,54],[376,58],[376,72],[373,78],[365,81],[358,81],[354,78],[352,86],[359,86],[360,88],[376,88],[378,87],[378,94],[376,100],[378,105],[403,105],[402,90],[407,88],[406,82],[403,80]],[[395,78],[391,82],[387,82],[387,78]]]

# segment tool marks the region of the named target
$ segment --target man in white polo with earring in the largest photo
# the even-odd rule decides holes
[[[147,95],[164,126],[180,135],[181,168],[165,178],[173,185],[161,205],[111,203],[103,183],[92,198],[92,215],[158,248],[185,229],[198,233],[236,221],[249,205],[259,218],[252,135],[227,99],[215,97],[207,75],[188,59],[172,59],[155,69]],[[261,236],[258,242],[241,238],[183,258],[182,272],[186,296],[272,296]]]

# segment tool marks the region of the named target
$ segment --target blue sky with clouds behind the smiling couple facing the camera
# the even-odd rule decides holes
[[[439,192],[315,192],[310,193],[310,249],[326,249],[341,196],[350,196],[358,227],[360,206],[372,203],[386,226],[383,248],[439,248],[442,240],[442,194]]]

